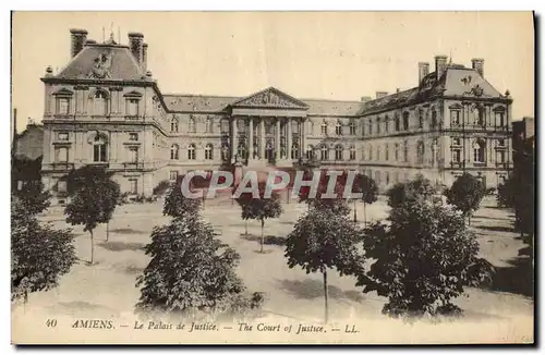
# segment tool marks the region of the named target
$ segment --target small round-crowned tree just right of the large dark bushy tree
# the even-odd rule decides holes
[[[486,187],[470,173],[459,176],[450,188],[445,191],[447,203],[456,206],[471,224],[471,215],[479,209],[483,197],[486,194]]]

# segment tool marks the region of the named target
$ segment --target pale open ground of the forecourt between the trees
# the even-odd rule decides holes
[[[279,219],[267,220],[265,223],[265,234],[272,243],[265,246],[264,254],[257,253],[259,223],[249,222],[250,236],[245,236],[244,222],[240,219],[237,205],[208,205],[202,215],[214,225],[220,238],[240,253],[238,273],[249,291],[265,293],[263,319],[318,323],[324,313],[320,274],[306,274],[304,270],[288,268],[283,246],[278,245],[292,230],[298,217],[306,210],[306,205],[292,201],[283,207],[284,213]],[[367,206],[367,219],[383,219],[387,210],[385,201],[379,200]],[[361,221],[363,205],[358,205],[358,216]],[[43,219],[57,228],[66,227],[59,210],[50,211]],[[489,341],[501,342],[514,338],[519,341],[532,339],[532,264],[526,246],[512,230],[512,219],[508,210],[496,208],[493,200],[485,200],[472,219],[471,228],[479,237],[481,254],[497,268],[497,272],[489,287],[469,289],[467,296],[457,299],[457,304],[465,311],[462,319],[444,321],[449,323],[449,332],[452,327],[460,327],[461,330],[457,334],[462,336],[462,340],[491,339]],[[16,331],[28,330],[29,319],[36,322],[34,326],[37,332],[44,331],[46,319],[59,318],[61,315],[64,315],[65,319],[117,319],[120,323],[132,326],[136,319],[133,315],[134,305],[140,296],[135,280],[148,262],[143,247],[149,242],[154,225],[166,223],[168,220],[169,218],[161,215],[160,203],[118,207],[110,223],[109,242],[105,241],[104,225],[95,232],[93,266],[84,262],[90,256],[88,233],[84,233],[81,227],[73,228],[77,256],[82,261],[61,279],[59,287],[32,294],[26,305],[19,304],[13,307],[12,319]],[[376,294],[363,294],[354,283],[355,280],[351,277],[341,278],[336,272],[329,273],[331,321],[346,322],[347,319],[352,319],[365,320],[373,325],[366,329],[366,335],[354,338],[353,341],[411,342],[419,336],[427,339],[426,335],[427,342],[451,340],[438,332],[440,327],[437,325],[429,326],[432,328],[428,331],[419,332],[417,336],[412,326],[400,321],[396,321],[396,327],[400,328],[393,334],[384,332],[385,328],[377,325],[389,321],[380,314],[385,298]],[[40,315],[39,318],[37,315]],[[486,335],[484,325],[491,327],[491,332]],[[476,332],[470,331],[469,326],[475,326]],[[391,325],[385,327],[393,329]],[[144,339],[131,336],[133,335],[129,336],[129,341]],[[106,338],[100,339],[107,341]]]

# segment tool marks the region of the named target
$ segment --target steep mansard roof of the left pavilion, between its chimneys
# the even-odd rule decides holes
[[[102,78],[113,81],[138,81],[145,73],[126,46],[114,42],[86,44],[56,78]]]

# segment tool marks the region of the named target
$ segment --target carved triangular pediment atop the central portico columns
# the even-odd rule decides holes
[[[234,101],[232,107],[238,108],[276,108],[306,110],[308,106],[294,97],[280,91],[275,87],[266,88],[256,94]]]

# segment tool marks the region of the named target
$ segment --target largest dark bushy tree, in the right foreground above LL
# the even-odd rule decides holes
[[[387,221],[365,230],[365,257],[376,261],[360,269],[356,283],[388,297],[383,313],[457,314],[452,298],[489,281],[492,268],[477,258],[476,237],[452,206],[412,200],[392,208]]]

